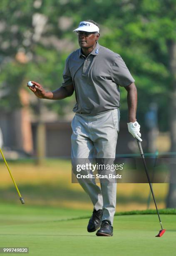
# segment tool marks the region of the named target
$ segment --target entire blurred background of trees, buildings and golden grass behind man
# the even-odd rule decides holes
[[[135,79],[144,152],[175,158],[175,13],[176,0],[0,1],[0,147],[28,205],[92,209],[71,183],[75,96],[40,100],[26,87],[31,80],[46,90],[61,86],[65,59],[79,48],[72,30],[82,20],[100,24],[99,44],[120,54]],[[117,156],[134,156],[139,151],[127,131],[126,90],[120,90]],[[19,203],[0,159],[0,201]],[[154,184],[154,192],[159,208],[176,207],[176,184]],[[118,185],[117,211],[146,208],[154,208],[148,184]]]

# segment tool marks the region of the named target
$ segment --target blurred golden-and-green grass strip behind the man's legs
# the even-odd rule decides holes
[[[79,184],[72,183],[70,161],[47,159],[41,166],[27,161],[12,161],[9,166],[26,205],[50,205],[92,210],[89,196]],[[0,173],[1,202],[18,202],[17,192],[7,167],[2,161],[0,161]],[[154,184],[153,189],[158,207],[164,208],[168,184]],[[149,184],[118,184],[116,211],[145,210],[149,191]],[[150,207],[155,209],[152,200]]]

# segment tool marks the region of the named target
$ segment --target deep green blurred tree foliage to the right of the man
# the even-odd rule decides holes
[[[102,38],[103,44],[123,56],[136,79],[140,89],[139,120],[144,120],[149,102],[156,102],[159,128],[170,130],[171,151],[176,152],[176,0],[102,3],[96,1],[94,9],[98,15],[92,15],[99,17],[108,32]],[[89,1],[82,13],[91,15],[92,5]],[[171,171],[172,180],[176,180],[175,169]],[[176,184],[169,186],[167,207],[176,207]]]

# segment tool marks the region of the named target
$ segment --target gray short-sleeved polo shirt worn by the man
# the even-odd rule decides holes
[[[74,84],[75,113],[97,115],[119,108],[120,86],[134,82],[123,59],[117,53],[100,46],[97,42],[89,56],[81,48],[67,58],[62,87]]]

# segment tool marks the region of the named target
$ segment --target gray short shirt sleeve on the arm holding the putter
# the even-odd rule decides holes
[[[124,87],[135,81],[119,54],[113,62],[111,77],[116,84]]]

